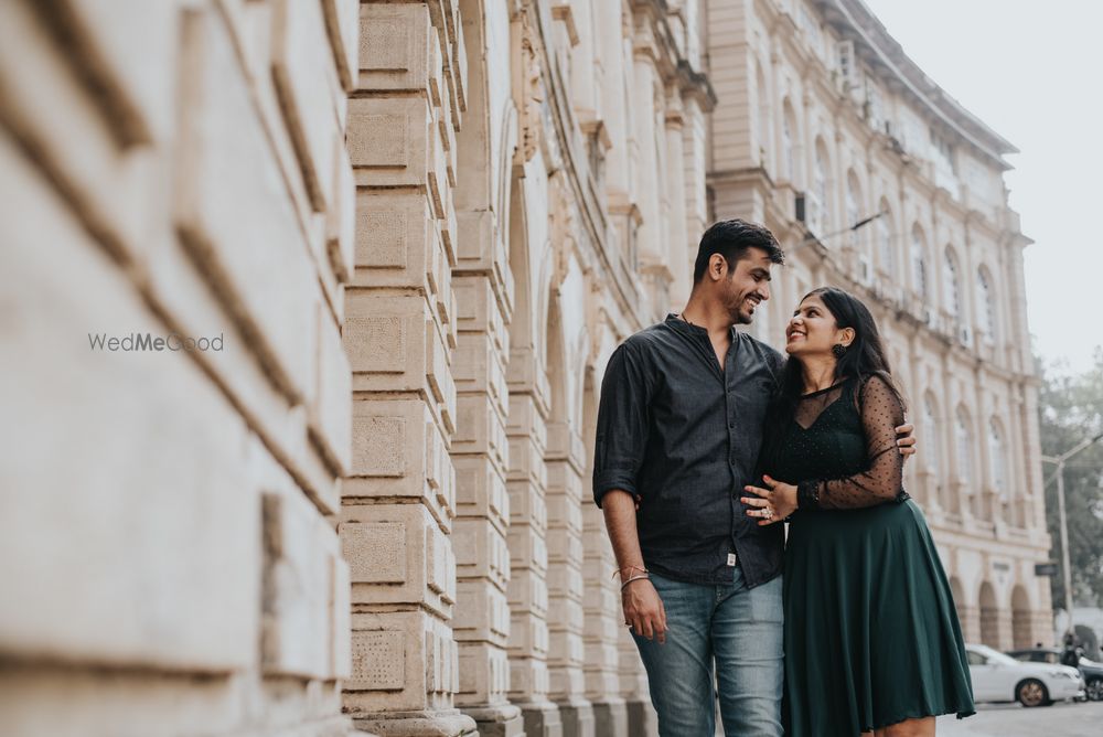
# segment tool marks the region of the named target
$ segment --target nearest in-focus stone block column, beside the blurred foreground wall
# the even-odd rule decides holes
[[[357,185],[346,291],[351,478],[341,538],[353,581],[344,707],[364,729],[459,735],[454,130],[464,55],[454,3],[361,6],[347,142]]]

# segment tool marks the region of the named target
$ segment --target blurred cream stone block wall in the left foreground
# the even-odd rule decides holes
[[[351,733],[356,10],[0,4],[6,735]]]

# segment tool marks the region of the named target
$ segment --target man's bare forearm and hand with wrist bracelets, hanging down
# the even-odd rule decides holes
[[[666,610],[643,567],[640,535],[635,527],[635,499],[627,491],[610,490],[602,498],[601,511],[604,512],[609,542],[617,556],[624,621],[636,634],[649,640],[657,638],[663,643],[666,641]]]

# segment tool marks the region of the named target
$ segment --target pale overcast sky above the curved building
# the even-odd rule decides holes
[[[1035,350],[1056,373],[1090,371],[1103,345],[1103,2],[865,2],[929,77],[1019,149],[1005,181],[1035,241]]]

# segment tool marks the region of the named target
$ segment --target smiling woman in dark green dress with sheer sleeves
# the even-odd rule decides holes
[[[840,289],[785,331],[762,455],[759,524],[793,514],[785,549],[788,735],[933,735],[974,713],[961,626],[923,514],[903,491],[903,403],[877,325]],[[795,514],[794,514],[795,512]]]

